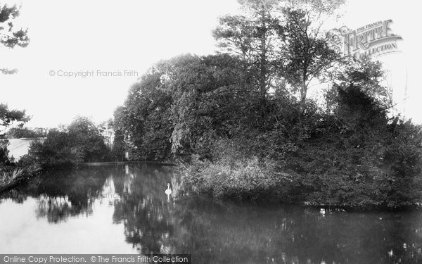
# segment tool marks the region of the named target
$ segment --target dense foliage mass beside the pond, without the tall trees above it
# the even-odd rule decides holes
[[[120,131],[151,158],[187,162],[186,186],[222,199],[418,201],[421,129],[388,113],[379,63],[349,62],[324,105],[308,100],[304,109],[285,87],[263,101],[236,63],[191,55],[159,63],[116,111]]]

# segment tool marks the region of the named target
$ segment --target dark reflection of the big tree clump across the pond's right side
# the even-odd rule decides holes
[[[412,263],[422,259],[421,214],[248,206],[184,197],[167,203],[177,177],[134,168],[120,182],[115,222],[140,253],[192,253],[195,263]],[[117,183],[117,182],[116,182]],[[117,184],[117,185],[119,185]]]

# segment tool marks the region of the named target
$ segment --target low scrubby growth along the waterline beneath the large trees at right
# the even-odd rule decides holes
[[[312,162],[320,167],[326,165],[315,160]],[[394,177],[387,170],[363,167],[331,167],[319,173],[300,174],[276,161],[258,158],[215,162],[196,158],[179,165],[188,191],[219,200],[358,209],[399,209],[420,204],[420,177]]]

